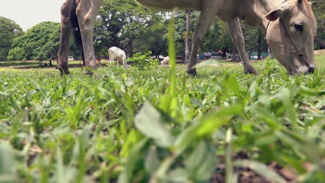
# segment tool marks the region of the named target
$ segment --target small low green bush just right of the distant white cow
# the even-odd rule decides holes
[[[132,58],[128,58],[128,62],[132,62],[132,65],[138,67],[140,70],[149,69],[151,66],[157,66],[158,60],[151,59],[150,55],[150,51],[135,53]]]

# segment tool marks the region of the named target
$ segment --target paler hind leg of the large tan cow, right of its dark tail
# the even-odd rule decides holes
[[[81,38],[83,40],[83,53],[85,55],[85,66],[97,69],[96,58],[94,56],[94,21],[101,0],[80,0],[76,8]]]

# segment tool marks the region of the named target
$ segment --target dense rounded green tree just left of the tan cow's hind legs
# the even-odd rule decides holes
[[[56,58],[60,40],[60,24],[44,21],[17,37],[8,60],[48,60]]]

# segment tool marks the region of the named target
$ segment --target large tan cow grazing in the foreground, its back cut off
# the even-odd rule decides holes
[[[66,0],[61,8],[62,24],[58,69],[69,73],[67,49],[72,28],[81,33],[85,65],[96,68],[93,47],[94,21],[102,0]],[[117,0],[118,1],[118,0]],[[144,6],[157,10],[199,10],[192,41],[188,73],[197,75],[193,67],[197,52],[210,22],[215,16],[226,22],[244,66],[245,73],[256,73],[245,52],[244,37],[239,19],[261,28],[278,62],[288,73],[308,73],[315,70],[314,35],[316,20],[307,0],[138,0]],[[70,23],[72,21],[72,24]],[[79,33],[79,34],[80,34]],[[78,33],[75,33],[78,35]]]

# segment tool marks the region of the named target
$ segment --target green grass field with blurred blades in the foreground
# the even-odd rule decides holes
[[[324,182],[325,55],[169,68],[0,68],[0,182]],[[1,67],[1,66],[0,66]]]

